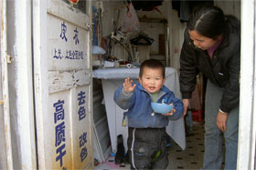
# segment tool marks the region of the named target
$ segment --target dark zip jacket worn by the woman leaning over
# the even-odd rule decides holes
[[[240,34],[230,31],[210,59],[207,50],[197,48],[187,30],[180,55],[180,90],[183,98],[191,98],[198,72],[219,87],[224,87],[219,108],[229,111],[239,105],[240,98]]]

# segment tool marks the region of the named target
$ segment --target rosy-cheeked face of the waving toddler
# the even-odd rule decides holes
[[[163,78],[162,70],[159,68],[152,69],[144,67],[142,77],[139,77],[140,84],[149,93],[155,93],[165,84],[165,78]]]

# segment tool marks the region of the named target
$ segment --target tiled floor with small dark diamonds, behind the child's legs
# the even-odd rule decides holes
[[[169,165],[167,169],[200,169],[203,164],[204,155],[204,125],[194,124],[193,131],[187,133],[187,148],[182,150],[178,145],[172,142],[168,148]],[[119,170],[130,169],[130,165],[115,165],[114,157],[99,166],[95,166],[99,170]]]

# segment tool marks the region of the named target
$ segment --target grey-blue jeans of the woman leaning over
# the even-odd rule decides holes
[[[224,88],[208,80],[205,109],[205,155],[203,169],[220,169],[222,164],[222,139],[225,139],[225,169],[236,169],[238,152],[239,105],[229,112],[226,131],[222,133],[216,119]]]

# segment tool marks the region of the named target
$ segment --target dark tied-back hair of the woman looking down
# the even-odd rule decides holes
[[[190,15],[187,28],[208,38],[217,39],[219,35],[229,35],[229,32],[240,34],[240,21],[235,16],[224,15],[217,6],[200,6]]]

